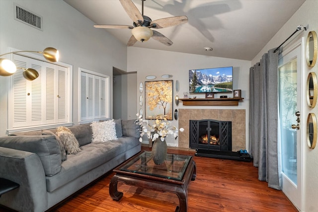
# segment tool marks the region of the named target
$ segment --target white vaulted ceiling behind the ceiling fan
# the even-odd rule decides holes
[[[64,1],[95,24],[133,25],[119,0]],[[142,12],[142,0],[132,1]],[[144,15],[152,20],[186,15],[188,22],[156,29],[173,41],[171,46],[150,39],[137,42],[134,47],[252,60],[304,1],[145,0]],[[131,29],[98,29],[92,25],[91,30],[107,30],[123,44],[127,44],[132,35]],[[282,42],[285,39],[282,38]],[[205,47],[213,51],[206,51]]]

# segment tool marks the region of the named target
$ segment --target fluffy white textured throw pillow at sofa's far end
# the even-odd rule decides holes
[[[105,142],[117,140],[115,122],[107,120],[104,122],[92,122],[90,124],[92,130],[92,142]]]

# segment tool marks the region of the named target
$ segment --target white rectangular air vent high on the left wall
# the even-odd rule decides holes
[[[14,19],[43,31],[42,17],[14,4]]]

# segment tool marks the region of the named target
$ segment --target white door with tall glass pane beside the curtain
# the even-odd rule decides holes
[[[278,61],[278,104],[282,190],[300,209],[301,203],[301,44],[284,51]]]

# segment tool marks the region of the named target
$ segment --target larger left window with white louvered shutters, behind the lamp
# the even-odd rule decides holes
[[[33,81],[17,70],[8,85],[8,133],[71,125],[71,66],[13,54],[19,68],[39,72]],[[59,63],[62,64],[62,63]]]

